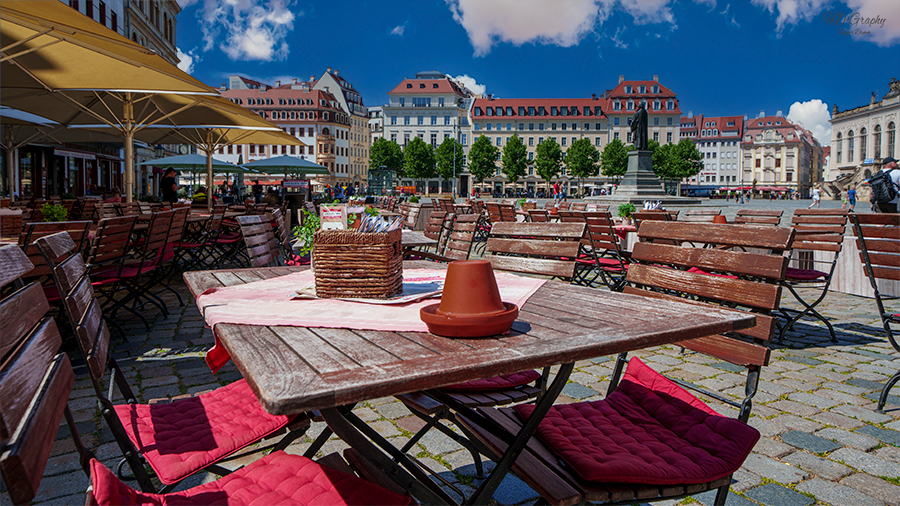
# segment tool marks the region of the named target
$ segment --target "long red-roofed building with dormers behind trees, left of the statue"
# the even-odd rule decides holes
[[[516,185],[511,185],[501,171],[498,161],[493,177],[486,178],[475,189],[480,193],[516,193],[516,188],[528,195],[538,195],[541,190],[549,194],[550,182],[535,173],[534,159],[537,146],[545,140],[553,139],[563,153],[578,139],[588,138],[598,151],[606,146],[609,139],[608,118],[604,115],[605,101],[596,95],[591,98],[485,98],[475,99],[470,111],[470,142],[484,135],[503,150],[510,137],[518,135],[528,150],[526,175]],[[560,179],[569,181],[563,166]],[[603,178],[583,181],[599,183]],[[575,181],[569,184],[570,191],[576,191]]]

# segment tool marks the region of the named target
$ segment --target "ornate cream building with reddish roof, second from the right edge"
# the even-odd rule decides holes
[[[808,196],[822,170],[823,151],[812,133],[779,114],[746,121],[741,142],[744,185],[783,187]]]

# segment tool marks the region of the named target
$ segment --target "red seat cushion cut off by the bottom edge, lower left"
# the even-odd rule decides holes
[[[134,490],[97,459],[91,459],[91,485],[93,502],[103,505],[412,504],[409,496],[283,451],[273,452],[216,481],[165,495]]]

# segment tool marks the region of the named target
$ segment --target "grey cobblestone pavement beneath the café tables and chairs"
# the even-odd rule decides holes
[[[208,390],[240,378],[231,364],[218,374],[210,373],[203,355],[212,345],[212,334],[204,328],[184,285],[178,288],[186,295],[186,306],[167,300],[172,310],[168,319],[147,314],[152,323],[149,333],[128,322],[128,341],[113,343],[112,353],[144,401]],[[784,304],[793,307],[788,298]],[[900,302],[888,304],[889,310],[900,312]],[[788,332],[784,345],[773,345],[750,418],[762,438],[734,475],[729,505],[900,504],[900,388],[890,397],[885,414],[874,411],[882,384],[900,364],[898,354],[886,341],[874,300],[831,292],[820,308],[835,326],[838,341],[832,342],[826,327],[810,319]],[[74,347],[71,342],[67,345]],[[743,396],[745,377],[729,364],[685,354],[674,346],[634,355],[669,376],[735,399]],[[72,351],[70,356],[77,379],[69,405],[79,432],[98,458],[114,469],[121,454],[96,410],[80,353]],[[559,402],[601,398],[612,363],[611,357],[600,357],[576,364]],[[719,412],[735,415],[734,408],[705,400]],[[422,424],[393,398],[363,403],[355,411],[398,447]],[[302,454],[323,427],[314,423],[288,451]],[[58,434],[36,503],[83,504],[88,479],[78,467],[67,434],[65,429]],[[343,448],[333,438],[320,456]],[[430,431],[412,453],[465,494],[478,484],[468,452],[438,431]],[[197,475],[179,488],[212,479]],[[503,505],[531,504],[536,498],[513,476],[494,495],[497,504]],[[712,499],[706,494],[662,504],[712,504]],[[8,496],[0,493],[0,504],[8,503]]]

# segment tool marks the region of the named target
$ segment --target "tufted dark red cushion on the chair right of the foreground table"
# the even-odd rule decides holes
[[[514,406],[528,417],[532,404]],[[538,436],[579,476],[600,483],[706,483],[741,467],[759,440],[637,358],[613,393],[557,405]]]

